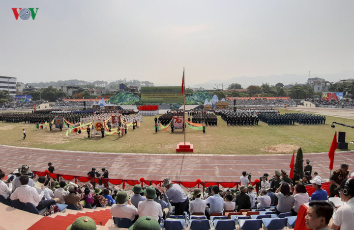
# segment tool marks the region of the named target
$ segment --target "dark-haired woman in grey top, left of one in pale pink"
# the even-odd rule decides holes
[[[291,212],[294,206],[294,196],[290,194],[289,184],[283,182],[280,187],[275,191],[275,196],[278,198],[278,205],[275,207],[276,214],[282,212]]]

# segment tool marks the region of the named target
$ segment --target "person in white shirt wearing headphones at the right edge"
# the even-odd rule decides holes
[[[353,230],[354,226],[354,178],[343,180],[336,190],[340,191],[340,197],[343,202],[347,202],[334,212],[329,227],[337,230]]]

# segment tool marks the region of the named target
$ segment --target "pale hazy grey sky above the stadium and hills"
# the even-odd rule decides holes
[[[212,79],[354,69],[354,0],[0,0],[0,76]],[[11,8],[39,8],[35,20]],[[261,84],[261,83],[260,83]]]

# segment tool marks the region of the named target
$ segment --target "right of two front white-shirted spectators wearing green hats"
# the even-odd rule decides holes
[[[153,199],[157,197],[156,190],[152,186],[148,186],[144,190],[144,194],[147,197],[146,201],[141,201],[138,204],[139,217],[151,216],[155,220],[159,220],[163,216],[161,204],[154,202]]]

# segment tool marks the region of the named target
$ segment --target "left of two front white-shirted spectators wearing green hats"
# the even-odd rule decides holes
[[[131,204],[131,201],[125,191],[120,191],[116,197],[117,204],[111,207],[113,217],[128,218],[131,221],[136,219],[138,209]]]

